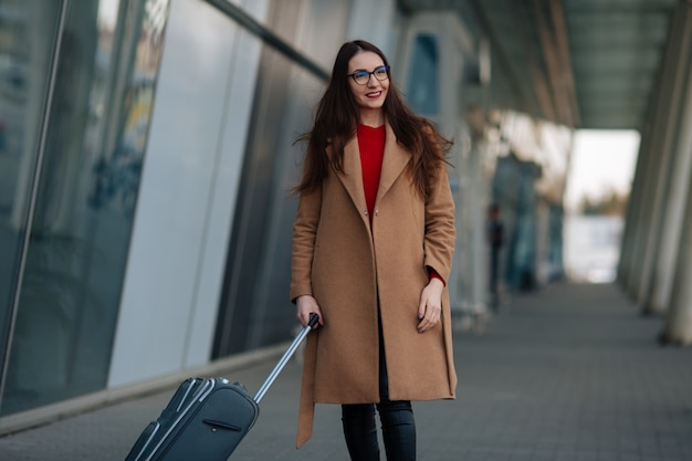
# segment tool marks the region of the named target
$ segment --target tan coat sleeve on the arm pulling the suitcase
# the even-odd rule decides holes
[[[315,239],[322,208],[322,190],[303,192],[293,222],[291,249],[291,302],[305,294],[313,294],[312,264]]]

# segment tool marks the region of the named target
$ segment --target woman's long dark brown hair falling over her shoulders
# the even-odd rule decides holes
[[[312,130],[297,137],[296,143],[307,142],[305,166],[301,182],[294,193],[314,191],[329,174],[329,166],[343,171],[344,147],[356,135],[359,107],[350,91],[348,62],[360,52],[370,51],[389,65],[385,53],[373,43],[364,40],[346,42],[339,49],[329,84],[317,104],[315,124]],[[428,177],[445,163],[452,142],[443,137],[427,118],[419,117],[403,103],[399,91],[389,76],[389,91],[382,106],[385,119],[391,126],[397,142],[411,153],[408,172],[416,189],[428,195]],[[332,159],[326,155],[331,146]],[[329,165],[331,164],[331,165]]]

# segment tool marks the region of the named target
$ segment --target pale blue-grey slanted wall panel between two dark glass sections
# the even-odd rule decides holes
[[[164,40],[108,386],[209,359],[258,80],[260,40],[208,3],[174,1]]]

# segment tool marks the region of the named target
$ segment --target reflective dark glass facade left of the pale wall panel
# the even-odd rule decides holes
[[[2,415],[105,387],[166,8],[2,3]]]

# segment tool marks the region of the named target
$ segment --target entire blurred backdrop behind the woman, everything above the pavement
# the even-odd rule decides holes
[[[0,0],[0,433],[292,336],[294,140],[353,39],[455,140],[455,318],[617,283],[692,343],[691,8]]]

